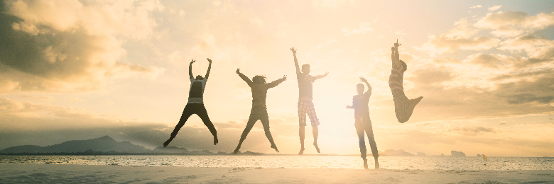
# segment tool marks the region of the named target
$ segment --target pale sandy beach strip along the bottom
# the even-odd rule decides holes
[[[0,164],[0,183],[554,183],[554,171]]]

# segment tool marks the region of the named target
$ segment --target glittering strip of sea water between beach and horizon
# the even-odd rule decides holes
[[[386,169],[425,170],[554,170],[550,157],[381,156]],[[42,163],[119,166],[356,168],[359,156],[0,156],[0,163]],[[370,168],[374,159],[368,157]]]

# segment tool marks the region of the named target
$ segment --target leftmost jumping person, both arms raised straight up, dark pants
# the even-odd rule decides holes
[[[212,135],[214,136],[214,145],[217,144],[217,131],[215,130],[214,124],[210,120],[210,117],[207,115],[206,108],[204,107],[204,88],[206,87],[206,81],[208,79],[208,76],[210,76],[210,69],[212,69],[212,59],[208,58],[208,62],[210,62],[210,65],[208,65],[208,69],[206,72],[206,77],[202,78],[202,76],[198,75],[196,76],[196,79],[192,75],[192,63],[195,62],[193,59],[192,62],[190,62],[190,65],[188,66],[188,76],[190,77],[190,91],[188,92],[188,103],[185,106],[185,110],[183,110],[183,114],[181,115],[181,118],[179,120],[179,123],[177,126],[175,126],[175,129],[173,132],[171,132],[171,137],[167,141],[163,143],[163,146],[168,146],[168,144],[175,138],[181,127],[185,125],[185,122],[187,122],[188,117],[192,114],[196,114],[202,119],[202,122],[204,122],[204,125],[212,132]]]

